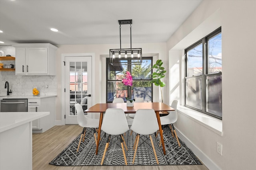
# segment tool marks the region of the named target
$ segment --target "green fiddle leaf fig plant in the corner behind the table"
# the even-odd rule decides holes
[[[164,70],[164,67],[162,67],[162,60],[157,60],[156,64],[152,66],[152,68],[156,68],[156,71],[153,72],[151,83],[154,83],[156,86],[160,86],[161,91],[161,98],[163,102],[163,95],[162,95],[162,87],[164,87],[166,84],[161,81],[162,78],[165,77],[164,73],[166,73],[166,70]]]

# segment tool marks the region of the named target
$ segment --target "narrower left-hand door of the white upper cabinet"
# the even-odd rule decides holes
[[[15,73],[16,75],[26,74],[26,50],[25,48],[15,49]]]

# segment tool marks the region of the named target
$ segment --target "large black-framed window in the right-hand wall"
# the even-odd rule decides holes
[[[185,106],[222,119],[221,27],[185,49]]]

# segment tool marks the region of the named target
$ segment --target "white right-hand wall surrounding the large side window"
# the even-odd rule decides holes
[[[222,133],[218,135],[183,114],[176,129],[193,144],[212,169],[256,168],[256,1],[203,1],[167,42],[169,52],[170,102],[184,102],[183,51],[222,26]],[[180,78],[172,74],[179,63]],[[178,81],[178,82],[177,82]],[[176,85],[176,86],[175,86]],[[177,90],[179,93],[177,93]],[[216,152],[223,145],[223,155]],[[204,161],[204,160],[203,160]]]

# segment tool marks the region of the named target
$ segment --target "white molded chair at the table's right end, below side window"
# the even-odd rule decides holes
[[[178,119],[177,104],[178,104],[177,100],[172,101],[171,107],[174,108],[175,110],[174,111],[168,111],[169,114],[167,116],[160,117],[160,121],[161,121],[161,125],[169,125],[169,127],[171,129],[171,132],[172,132],[172,136],[174,137],[174,135],[173,135],[173,132],[174,132],[174,134],[176,136],[176,139],[177,139],[177,142],[178,142],[178,145],[180,147],[180,141],[178,139],[178,136],[176,134],[174,126],[172,125],[172,123],[175,123]],[[160,141],[160,145],[161,145],[161,141]]]

